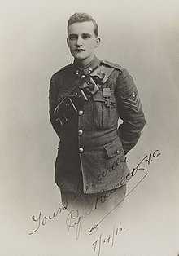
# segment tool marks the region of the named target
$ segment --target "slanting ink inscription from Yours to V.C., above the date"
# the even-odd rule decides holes
[[[117,183],[116,187],[113,188],[111,191],[107,192],[100,192],[96,196],[96,201],[94,205],[92,205],[91,208],[87,209],[85,214],[81,215],[78,210],[74,209],[69,212],[68,217],[66,218],[66,225],[68,226],[68,232],[71,228],[76,227],[76,239],[79,238],[80,236],[80,230],[81,230],[81,220],[89,216],[94,210],[98,209],[98,202],[104,203],[109,196],[111,196],[112,193],[116,192],[116,190],[120,187],[123,186],[125,183],[129,182],[130,179],[132,179],[137,173],[138,170],[145,171],[146,166],[144,165],[145,163],[147,166],[151,165],[151,162],[155,159],[157,159],[161,153],[159,152],[158,149],[156,149],[154,152],[151,152],[147,154],[145,157],[142,158],[142,161],[140,161],[136,167],[133,168],[132,172],[128,173],[124,179],[120,181],[120,184]],[[124,159],[126,161],[126,158]],[[120,165],[120,161],[116,161],[116,163],[111,167],[111,170],[114,170],[116,166]],[[108,170],[109,171],[109,170]],[[112,211],[116,210],[116,208],[120,205],[124,199],[129,196],[130,193],[134,191],[139,185],[139,183],[142,183],[143,179],[145,179],[147,174],[143,176],[143,178],[137,183],[137,185],[126,195],[124,198],[113,208],[111,211],[109,211],[97,224],[95,224],[90,230],[89,230],[89,235],[93,235],[95,232],[97,232],[98,227],[101,223],[103,223],[103,220],[111,214]],[[103,179],[106,177],[105,175],[100,176],[100,179]],[[75,199],[75,197],[74,197]],[[45,215],[42,216],[42,212],[40,211],[37,217],[34,215],[32,216],[33,222],[37,223],[37,228],[33,230],[33,232],[30,232],[29,235],[32,235],[33,233],[37,232],[41,226],[45,226],[46,222],[49,220],[52,220],[53,218],[56,218],[59,214],[63,212],[63,210],[66,210],[68,208],[68,201],[66,201],[65,205],[62,207],[59,207],[58,210],[56,210],[53,214]]]

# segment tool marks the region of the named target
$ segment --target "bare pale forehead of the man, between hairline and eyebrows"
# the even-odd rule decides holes
[[[68,35],[69,34],[81,34],[81,33],[90,33],[94,34],[94,23],[92,21],[85,22],[76,22],[68,27]]]

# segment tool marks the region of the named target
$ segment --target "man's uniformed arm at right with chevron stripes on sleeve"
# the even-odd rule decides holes
[[[133,77],[126,69],[121,69],[116,80],[116,101],[120,118],[123,120],[118,134],[123,144],[124,153],[127,154],[138,142],[146,119],[137,87],[133,82]]]

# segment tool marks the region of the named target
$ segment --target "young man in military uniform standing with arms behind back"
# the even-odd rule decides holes
[[[113,207],[125,194],[125,156],[145,125],[138,90],[126,69],[95,56],[100,38],[90,15],[70,17],[67,43],[74,61],[50,81],[50,121],[60,139],[55,182],[68,207]]]

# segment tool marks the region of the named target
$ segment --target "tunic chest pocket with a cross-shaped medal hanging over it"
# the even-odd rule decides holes
[[[103,88],[98,90],[93,96],[94,126],[100,129],[107,129],[111,126],[116,126],[117,119],[114,92],[110,91],[109,95],[105,95],[103,93]]]

